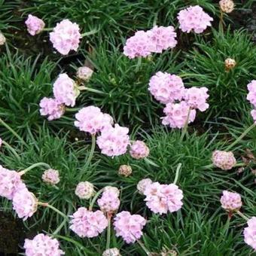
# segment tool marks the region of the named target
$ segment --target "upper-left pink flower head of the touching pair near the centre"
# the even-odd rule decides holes
[[[75,114],[75,126],[83,132],[96,134],[104,128],[112,126],[113,118],[109,114],[103,114],[100,108],[89,106],[81,108]]]

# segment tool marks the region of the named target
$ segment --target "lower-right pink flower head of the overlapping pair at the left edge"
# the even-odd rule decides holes
[[[19,218],[23,218],[23,220],[26,221],[26,219],[31,217],[38,209],[38,200],[35,195],[29,192],[25,187],[21,190],[17,190],[14,194],[13,209]]]

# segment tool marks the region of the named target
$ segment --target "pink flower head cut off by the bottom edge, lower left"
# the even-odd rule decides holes
[[[25,239],[24,248],[26,256],[60,256],[65,254],[59,249],[57,239],[50,238],[43,233],[39,233],[32,240]]]

